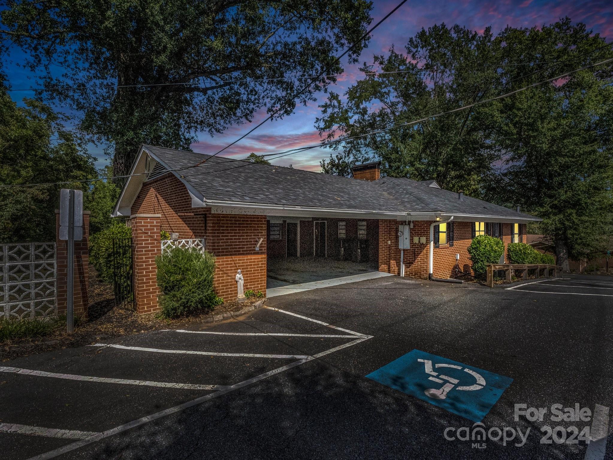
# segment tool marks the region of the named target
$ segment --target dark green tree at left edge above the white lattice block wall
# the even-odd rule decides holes
[[[68,119],[33,99],[18,107],[0,89],[0,186],[93,178],[93,158],[64,129]],[[80,183],[0,187],[0,242],[55,241],[59,189]]]

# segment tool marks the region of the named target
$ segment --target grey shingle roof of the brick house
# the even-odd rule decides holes
[[[493,205],[476,198],[458,199],[455,192],[429,187],[433,181],[385,177],[363,181],[341,176],[279,167],[245,160],[144,145],[169,168],[178,172],[205,200],[259,203],[313,208],[384,211],[392,213],[433,212],[477,216],[534,219],[528,214]]]

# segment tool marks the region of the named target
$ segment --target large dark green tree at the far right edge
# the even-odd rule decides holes
[[[552,78],[611,56],[598,34],[566,19],[539,29],[501,32],[509,61],[563,61],[517,80],[504,69],[504,91]],[[525,72],[525,71],[524,71]],[[493,142],[506,152],[489,195],[544,219],[558,265],[601,257],[613,224],[613,66],[582,70],[500,101]],[[503,184],[503,186],[501,186]],[[609,235],[609,236],[607,236]]]

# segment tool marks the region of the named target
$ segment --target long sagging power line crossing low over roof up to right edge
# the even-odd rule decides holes
[[[264,154],[264,155],[259,155],[259,156],[260,157],[271,157],[270,159],[274,160],[274,159],[278,159],[278,158],[281,158],[281,157],[293,155],[293,154],[296,154],[296,153],[301,153],[303,151],[307,151],[307,150],[310,150],[310,149],[326,147],[328,145],[339,143],[339,142],[345,142],[345,141],[348,141],[348,140],[354,140],[354,139],[357,139],[357,138],[363,138],[363,137],[366,137],[366,136],[369,136],[369,135],[373,135],[373,134],[379,134],[381,132],[385,132],[385,131],[390,130],[390,129],[396,129],[396,128],[399,128],[399,127],[409,126],[409,125],[412,125],[412,124],[422,123],[422,122],[427,121],[428,119],[431,119],[431,118],[437,118],[439,116],[449,115],[450,113],[455,113],[455,112],[458,112],[458,111],[466,110],[468,108],[476,107],[477,105],[485,104],[486,102],[492,102],[493,100],[503,99],[504,97],[512,96],[513,94],[517,94],[518,92],[525,91],[526,89],[534,88],[535,86],[544,85],[545,83],[549,83],[550,81],[559,80],[560,78],[568,77],[568,75],[573,75],[573,74],[576,74],[577,72],[581,72],[581,70],[591,69],[592,67],[600,66],[601,64],[606,64],[607,62],[612,62],[612,61],[613,61],[613,58],[604,59],[604,61],[595,62],[594,64],[589,64],[588,66],[581,67],[580,69],[570,70],[569,72],[566,72],[565,74],[560,74],[560,75],[557,75],[556,77],[552,77],[552,78],[548,78],[547,80],[539,81],[538,83],[532,83],[531,85],[524,86],[523,88],[515,89],[514,91],[507,92],[505,94],[501,94],[500,96],[490,97],[489,99],[480,100],[478,102],[474,102],[473,104],[463,105],[462,107],[458,107],[458,108],[454,108],[452,110],[447,110],[447,111],[444,111],[444,112],[441,112],[441,113],[437,113],[436,115],[428,115],[428,116],[425,116],[424,118],[420,118],[420,119],[413,120],[413,121],[408,121],[406,123],[400,123],[400,124],[397,124],[397,125],[394,125],[394,126],[384,127],[384,128],[378,129],[378,130],[374,130],[374,131],[371,131],[371,132],[364,133],[364,134],[358,134],[358,135],[349,136],[349,137],[342,137],[342,138],[333,139],[333,140],[330,140],[330,141],[327,141],[327,142],[324,142],[324,143],[319,143],[319,144],[314,144],[314,145],[309,145],[309,146],[304,146],[304,147],[299,147],[299,148],[289,149],[289,150],[286,150],[286,151],[281,151],[281,152],[271,153],[271,154]],[[246,164],[238,165],[238,166],[235,166],[235,167],[232,167],[232,168],[225,168],[223,170],[217,170],[215,172],[223,172],[223,171],[234,169],[234,168],[246,167],[246,166],[249,166],[249,165],[257,164],[257,162],[249,161],[248,158],[245,158],[245,159],[231,159],[231,160],[227,160],[226,162],[238,162],[238,161],[246,162]],[[218,164],[218,163],[213,163],[213,164],[208,164],[208,165],[212,166],[212,165],[215,165],[215,164]],[[177,171],[182,171],[182,170],[188,170],[188,169],[197,168],[197,167],[201,167],[201,166],[205,166],[205,165],[206,164],[203,164],[202,162],[200,162],[197,165],[185,166],[185,167],[181,167],[181,168],[173,168],[173,169],[167,170],[167,172],[177,172]],[[40,184],[0,185],[0,187],[28,187],[28,186],[46,186],[46,185],[64,185],[64,184],[73,184],[73,183],[88,183],[88,182],[99,181],[99,180],[104,180],[104,179],[107,179],[107,180],[108,179],[123,179],[123,178],[129,178],[129,177],[132,177],[132,176],[140,176],[140,175],[145,175],[145,174],[147,174],[147,173],[136,173],[136,174],[125,175],[125,176],[113,176],[113,177],[110,177],[110,178],[82,179],[82,180],[75,180],[75,181],[40,183]]]

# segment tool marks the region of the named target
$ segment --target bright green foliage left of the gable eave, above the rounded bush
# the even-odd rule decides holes
[[[113,168],[105,166],[100,170],[99,176],[107,178],[105,181],[96,181],[89,194],[85,195],[83,208],[91,211],[89,215],[89,233],[94,235],[112,224],[111,213],[115,208],[120,189],[109,178],[113,176]]]

